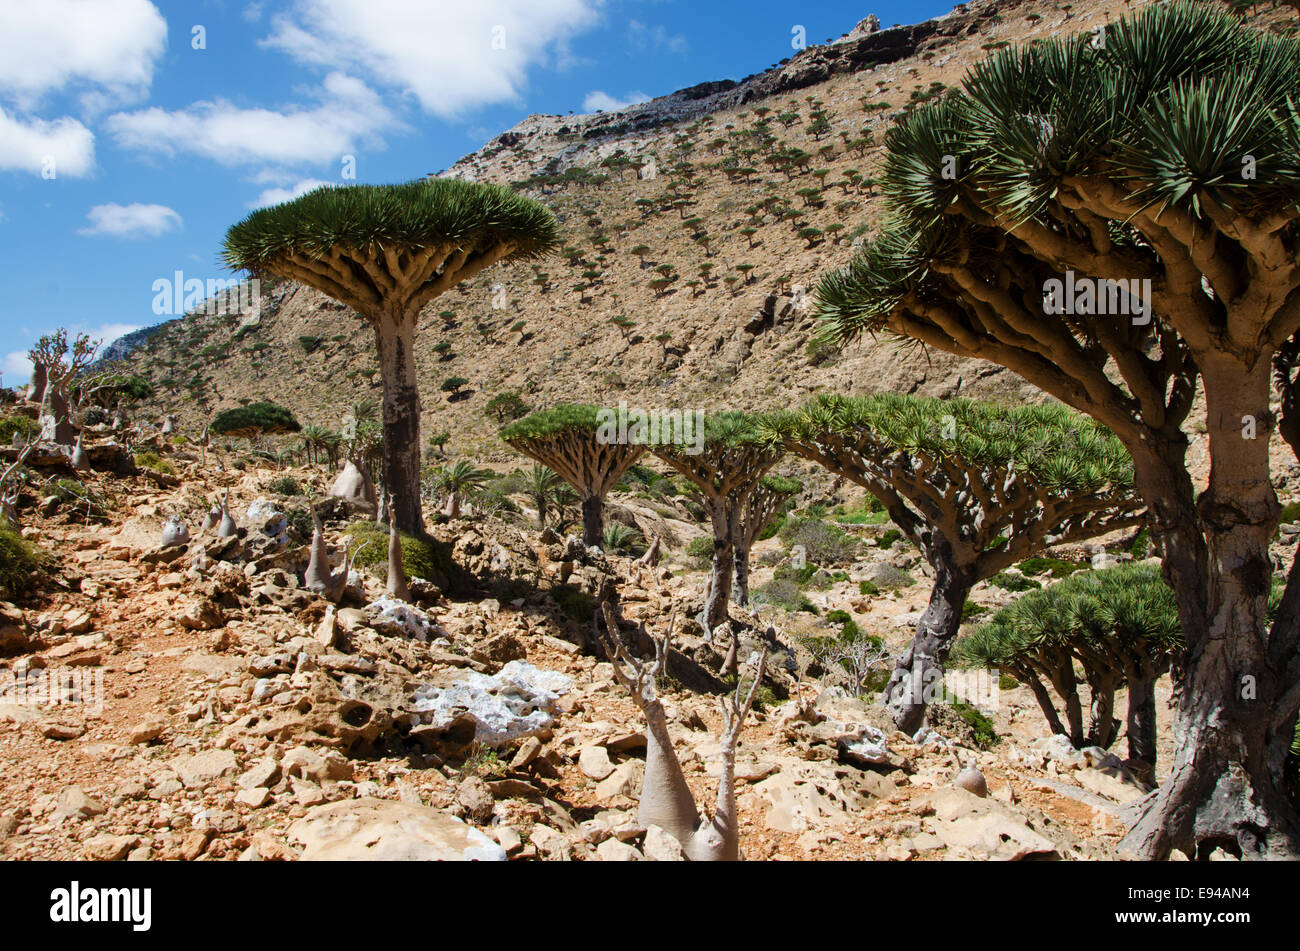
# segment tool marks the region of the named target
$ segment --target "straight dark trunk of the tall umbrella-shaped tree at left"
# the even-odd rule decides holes
[[[408,535],[422,535],[415,325],[415,314],[382,316],[374,321],[374,340],[384,377],[384,485],[393,500],[390,522]]]

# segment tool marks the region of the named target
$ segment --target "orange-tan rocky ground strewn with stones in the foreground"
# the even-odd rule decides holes
[[[633,644],[679,618],[660,692],[711,809],[722,656],[684,620],[701,573],[474,517],[433,526],[463,577],[416,583],[416,603],[399,605],[363,572],[335,607],[300,587],[308,551],[278,516],[300,500],[266,488],[285,470],[157,444],[174,474],[77,473],[101,514],[25,500],[23,534],[56,566],[29,602],[0,605],[0,855],[680,857],[637,824],[644,722],[575,618],[604,586]],[[316,491],[329,476],[287,474]],[[226,492],[240,529],[221,539],[198,526]],[[347,517],[325,508],[338,552]],[[173,514],[192,539],[162,547]],[[918,568],[915,552],[868,552],[854,581],[885,563]],[[815,598],[898,647],[926,587]],[[740,744],[745,857],[1114,856],[1143,787],[1104,751],[1048,737],[1027,690],[1001,692],[992,748],[948,707],[916,742],[833,678],[807,677],[796,628],[811,621],[777,615],[763,618],[777,631],[767,702]],[[742,657],[757,643],[745,637]],[[51,685],[65,702],[36,703]],[[967,767],[987,795],[954,785]]]

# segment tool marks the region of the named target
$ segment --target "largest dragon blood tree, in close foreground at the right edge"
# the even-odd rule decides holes
[[[893,126],[883,233],[819,291],[888,331],[1010,368],[1130,451],[1187,642],[1176,757],[1123,847],[1300,855],[1294,563],[1269,621],[1270,369],[1300,329],[1300,39],[1152,4],[1009,49]],[[1279,374],[1283,405],[1294,366]],[[1209,479],[1184,424],[1204,394]]]

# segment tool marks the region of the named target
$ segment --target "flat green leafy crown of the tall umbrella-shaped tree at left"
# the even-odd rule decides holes
[[[226,265],[273,270],[277,259],[320,259],[334,248],[363,257],[412,248],[484,248],[507,243],[511,257],[538,257],[559,244],[559,225],[542,204],[506,186],[451,178],[407,184],[321,187],[261,208],[226,234]]]

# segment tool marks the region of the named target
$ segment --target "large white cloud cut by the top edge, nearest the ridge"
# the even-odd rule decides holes
[[[572,58],[599,0],[295,0],[265,44],[347,69],[454,117],[517,100],[530,66]]]

